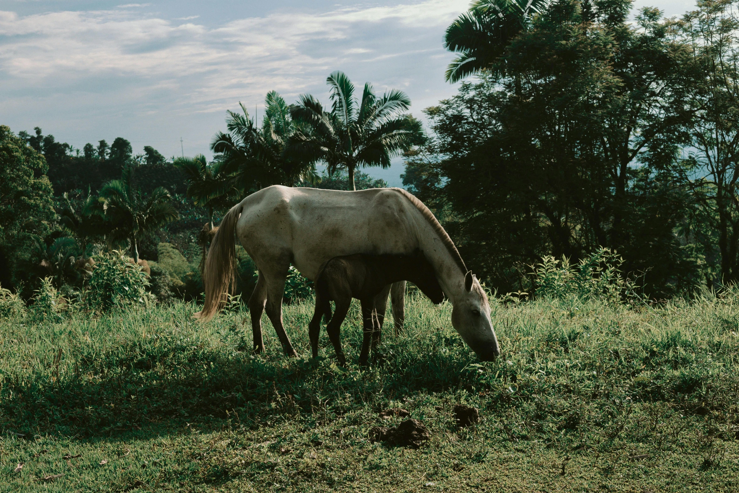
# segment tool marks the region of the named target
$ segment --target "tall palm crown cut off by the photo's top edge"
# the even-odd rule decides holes
[[[493,67],[508,43],[550,0],[477,0],[446,28],[444,47],[459,53],[446,69],[446,81],[457,82]]]

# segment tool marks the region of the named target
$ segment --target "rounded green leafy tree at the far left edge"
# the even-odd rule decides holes
[[[35,237],[52,228],[52,187],[44,157],[0,126],[0,284],[17,286],[30,271]]]

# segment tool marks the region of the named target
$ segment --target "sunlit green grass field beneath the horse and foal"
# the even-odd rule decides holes
[[[253,355],[248,313],[202,325],[192,305],[1,321],[0,491],[739,491],[739,295],[494,304],[503,355],[483,364],[451,306],[406,310],[360,370],[353,307],[348,371],[325,334],[307,359],[310,302],[285,307],[302,359],[266,318]],[[458,428],[454,404],[480,423]],[[371,443],[393,407],[431,439]]]

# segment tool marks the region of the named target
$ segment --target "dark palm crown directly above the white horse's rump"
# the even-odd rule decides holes
[[[242,114],[228,112],[228,133],[218,132],[211,150],[220,154],[223,169],[234,173],[244,193],[253,187],[269,185],[293,186],[296,181],[315,181],[312,162],[286,154],[290,137],[299,129],[299,122],[290,116],[290,107],[274,91],[265,98],[265,118],[262,128],[249,117],[242,103]],[[293,158],[296,157],[296,158]]]

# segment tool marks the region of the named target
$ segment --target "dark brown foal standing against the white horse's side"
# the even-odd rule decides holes
[[[434,303],[444,299],[434,268],[420,252],[412,255],[336,256],[326,262],[316,279],[316,310],[308,325],[313,358],[319,356],[321,316],[326,316],[326,331],[336,350],[338,362],[342,366],[346,364],[339,333],[352,298],[356,298],[361,302],[364,328],[359,364],[367,364],[370,343],[372,350],[375,350],[380,341],[381,324],[375,312],[375,297],[387,285],[398,281],[414,283]],[[333,317],[330,301],[336,302]]]

